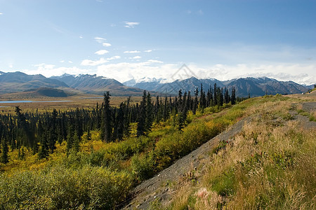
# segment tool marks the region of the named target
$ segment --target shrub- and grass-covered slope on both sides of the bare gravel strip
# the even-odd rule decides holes
[[[147,137],[112,143],[101,141],[95,130],[91,138],[84,134],[79,153],[66,155],[63,142],[47,160],[27,149],[10,152],[13,161],[0,165],[0,209],[118,209],[139,183],[249,116],[233,141],[209,151],[203,173],[197,168],[193,176],[169,183],[175,191],[171,203],[157,199],[150,208],[315,208],[315,127],[293,120],[291,110],[303,109],[292,106],[299,102],[277,95],[213,106],[189,113],[182,132],[171,116],[154,124]],[[136,133],[136,125],[131,131]]]

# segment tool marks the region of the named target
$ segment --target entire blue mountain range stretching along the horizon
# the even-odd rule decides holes
[[[175,80],[172,83],[166,83],[163,78],[143,78],[141,80],[129,80],[125,83],[113,78],[103,76],[83,74],[73,76],[65,73],[62,76],[53,76],[46,78],[41,74],[28,75],[19,71],[4,73],[0,71],[0,94],[11,92],[45,92],[48,95],[91,93],[103,94],[110,91],[113,96],[137,96],[143,94],[143,90],[148,90],[152,94],[178,94],[178,90],[194,92],[200,88],[201,84],[204,91],[213,87],[216,83],[218,87],[227,87],[229,91],[235,87],[236,95],[239,97],[262,96],[264,94],[296,94],[307,92],[313,85],[304,86],[292,81],[279,81],[272,78],[238,78],[234,80],[220,81],[214,78],[197,79],[195,77],[185,80]],[[43,91],[43,88],[45,88]],[[50,90],[51,89],[51,90]],[[58,92],[57,90],[63,90]],[[59,93],[59,94],[58,94]]]

